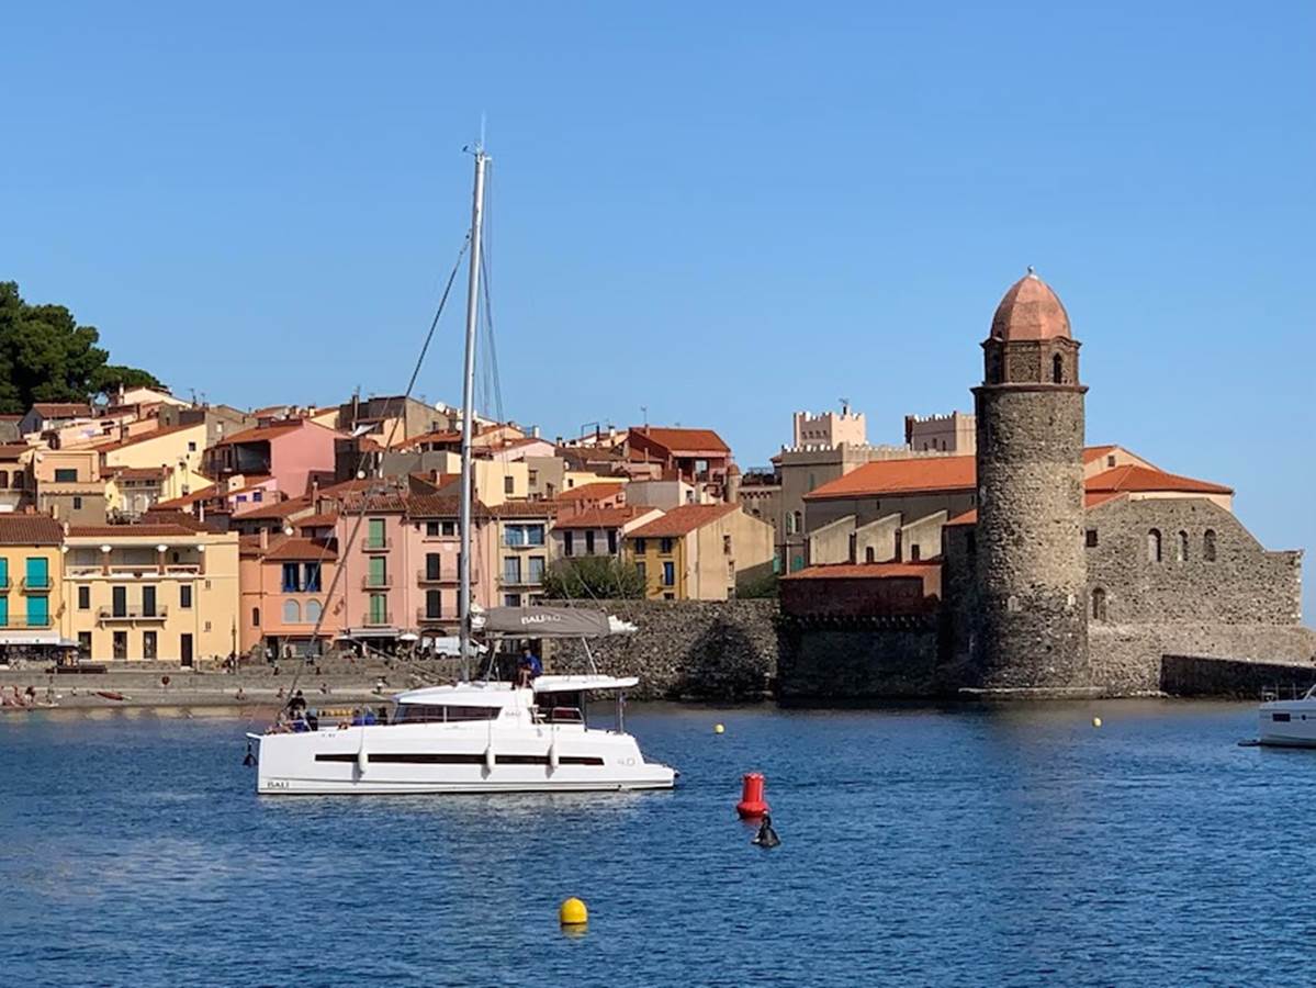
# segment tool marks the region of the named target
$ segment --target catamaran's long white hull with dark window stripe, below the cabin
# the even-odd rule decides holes
[[[676,772],[645,762],[634,739],[597,730],[508,731],[366,726],[250,735],[257,792],[268,796],[670,789]],[[445,734],[449,734],[445,737]],[[437,735],[437,737],[436,737]]]

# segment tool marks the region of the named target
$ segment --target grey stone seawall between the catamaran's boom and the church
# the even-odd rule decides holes
[[[761,700],[776,678],[775,600],[591,603],[640,628],[592,639],[600,672],[640,676],[636,700]],[[551,672],[582,672],[579,642],[555,643]]]

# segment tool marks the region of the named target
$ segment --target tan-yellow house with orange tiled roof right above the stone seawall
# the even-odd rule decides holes
[[[686,504],[626,534],[649,600],[728,600],[772,571],[772,526],[737,504]]]

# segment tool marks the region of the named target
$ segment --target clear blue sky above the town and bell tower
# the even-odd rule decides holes
[[[1036,264],[1088,438],[1311,550],[1316,8],[1063,7],[21,4],[0,278],[184,395],[396,391],[484,113],[507,414],[753,466],[846,396],[898,441]]]

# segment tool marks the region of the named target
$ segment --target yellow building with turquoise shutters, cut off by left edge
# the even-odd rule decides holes
[[[0,662],[59,647],[62,537],[49,514],[0,514]]]

